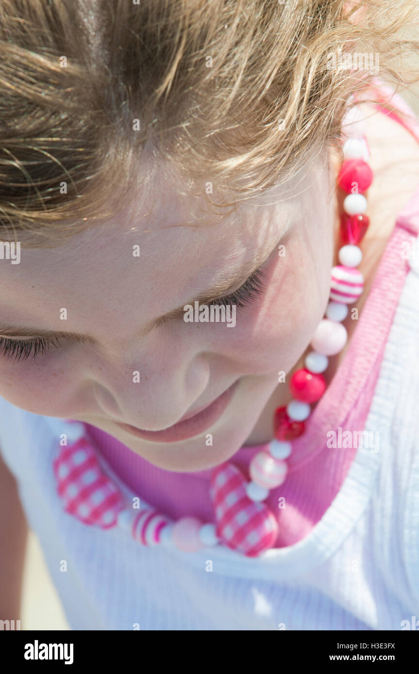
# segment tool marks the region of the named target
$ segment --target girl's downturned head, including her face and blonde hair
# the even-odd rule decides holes
[[[341,119],[372,76],[333,53],[384,71],[407,5],[3,0],[1,396],[170,470],[234,454],[327,305]],[[194,300],[231,313],[188,322]],[[121,426],[230,388],[192,437]]]

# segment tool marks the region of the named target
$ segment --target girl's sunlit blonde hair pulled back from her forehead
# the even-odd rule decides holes
[[[414,0],[2,0],[3,239],[45,245],[109,216],[148,142],[220,204],[260,195],[340,134],[374,73],[330,55],[417,51]],[[107,210],[105,210],[107,209]],[[11,232],[10,232],[11,230]],[[39,242],[37,245],[40,245]]]

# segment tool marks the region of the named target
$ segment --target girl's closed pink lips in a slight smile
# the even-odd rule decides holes
[[[190,417],[190,419],[185,419],[185,421],[179,421],[174,426],[166,428],[163,431],[141,431],[128,423],[119,423],[118,421],[115,423],[123,431],[130,433],[130,435],[141,437],[151,442],[179,442],[186,440],[203,433],[208,427],[218,421],[229,405],[231,398],[233,398],[237,384],[238,381],[235,381],[230,388],[227,388],[221,396],[211,402],[211,405],[208,405],[202,412],[194,415],[194,417]]]

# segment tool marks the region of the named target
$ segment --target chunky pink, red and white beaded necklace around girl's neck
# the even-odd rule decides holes
[[[343,144],[343,157],[337,177],[338,187],[346,193],[340,220],[343,246],[338,253],[340,264],[331,270],[325,318],[314,332],[305,367],[298,369],[289,381],[291,402],[275,411],[275,437],[269,449],[258,452],[250,461],[250,480],[229,461],[213,469],[210,495],[215,524],[192,516],[174,522],[157,510],[136,510],[103,470],[84,425],[71,421],[70,443],[60,445],[53,462],[57,492],[65,512],[91,526],[122,528],[141,545],[175,546],[185,553],[225,545],[242,555],[256,557],[275,546],[279,524],[264,501],[271,489],[285,482],[291,441],[304,433],[312,411],[310,405],[325,392],[323,372],[329,356],[340,353],[347,342],[341,321],[347,316],[348,305],[358,300],[364,288],[364,278],[356,268],[362,260],[358,244],[369,224],[363,193],[372,182],[372,171],[366,162],[368,144],[359,131]]]

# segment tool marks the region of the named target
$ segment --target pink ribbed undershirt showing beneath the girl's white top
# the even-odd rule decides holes
[[[376,100],[384,114],[397,119],[419,142],[419,123],[406,102],[380,87]],[[401,115],[395,112],[395,106]],[[374,283],[360,315],[347,353],[329,388],[306,423],[306,432],[293,441],[289,474],[271,491],[268,505],[279,521],[275,547],[294,545],[310,532],[337,495],[356,454],[356,448],[330,449],[327,433],[362,431],[368,416],[387,336],[409,266],[401,257],[401,243],[419,233],[419,186],[397,217],[381,257]],[[209,495],[211,470],[178,473],[152,466],[119,441],[87,425],[101,454],[128,487],[159,512],[177,519],[196,516],[215,522]],[[243,447],[231,458],[244,474],[254,454],[267,446]],[[208,450],[210,451],[210,450]],[[285,497],[285,508],[279,508]]]

